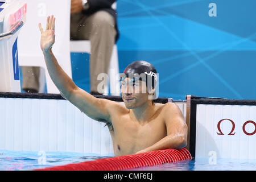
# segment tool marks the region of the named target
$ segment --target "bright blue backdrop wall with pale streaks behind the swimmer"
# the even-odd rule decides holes
[[[120,72],[135,60],[154,64],[159,97],[256,99],[255,9],[255,0],[118,0]],[[89,55],[71,59],[73,80],[89,91]]]

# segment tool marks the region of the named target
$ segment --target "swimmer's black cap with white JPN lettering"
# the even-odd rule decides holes
[[[155,88],[156,86],[156,81],[158,80],[157,75],[156,75],[156,69],[155,67],[148,63],[147,61],[134,61],[133,63],[129,64],[126,68],[125,71],[126,77],[129,77],[129,75],[141,75],[142,73],[146,74],[146,85],[148,88],[148,79],[152,81],[152,88]],[[141,80],[141,78],[140,78]]]

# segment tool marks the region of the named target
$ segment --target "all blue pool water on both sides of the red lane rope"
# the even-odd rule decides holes
[[[44,158],[45,156],[45,158]],[[0,150],[0,170],[31,170],[51,166],[59,166],[70,163],[79,163],[87,160],[109,158],[110,155],[82,154],[76,152],[38,152],[38,151],[8,151]],[[46,159],[46,160],[44,160]],[[256,160],[241,159],[216,159],[209,162],[209,158],[196,158],[181,162],[162,164],[151,167],[141,167],[129,170],[143,171],[255,171]]]

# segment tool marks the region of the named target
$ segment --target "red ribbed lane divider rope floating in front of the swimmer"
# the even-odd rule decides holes
[[[166,149],[141,154],[122,155],[113,158],[89,160],[63,166],[35,169],[36,171],[117,171],[144,166],[172,163],[180,160],[191,160],[192,156],[185,148],[180,150]]]

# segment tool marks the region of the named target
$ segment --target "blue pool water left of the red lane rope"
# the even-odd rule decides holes
[[[32,170],[87,160],[109,158],[113,154],[83,154],[77,152],[39,152],[0,150],[0,171]],[[45,160],[44,160],[45,159]]]

